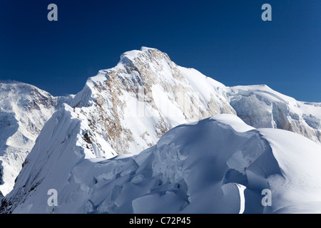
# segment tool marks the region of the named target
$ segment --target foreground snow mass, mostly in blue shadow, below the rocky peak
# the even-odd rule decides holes
[[[321,212],[321,147],[301,135],[216,115],[169,130],[139,155],[104,160],[75,145],[79,129],[72,109],[54,114],[1,212]],[[56,207],[47,204],[49,189],[58,192]],[[261,203],[265,189],[271,207]]]

